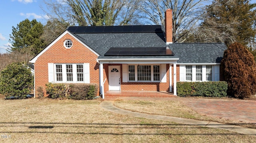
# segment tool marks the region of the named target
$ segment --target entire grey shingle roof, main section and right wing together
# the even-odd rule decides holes
[[[227,48],[223,43],[173,43],[168,45],[173,56],[107,56],[104,54],[112,47],[166,47],[164,29],[161,25],[129,25],[74,26],[67,30],[96,51],[98,59],[179,58],[177,63],[220,63]]]

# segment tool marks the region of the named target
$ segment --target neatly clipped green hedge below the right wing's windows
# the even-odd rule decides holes
[[[227,96],[227,82],[177,82],[178,96],[203,96],[225,97]]]

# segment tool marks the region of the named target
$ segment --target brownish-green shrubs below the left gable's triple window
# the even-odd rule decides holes
[[[90,100],[98,91],[97,84],[46,84],[46,94],[49,98]]]

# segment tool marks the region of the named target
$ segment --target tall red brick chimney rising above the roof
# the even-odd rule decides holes
[[[170,9],[165,12],[165,38],[166,44],[172,43],[172,10]]]

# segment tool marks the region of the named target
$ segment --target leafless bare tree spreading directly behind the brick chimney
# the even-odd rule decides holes
[[[164,25],[164,12],[172,10],[173,42],[184,42],[197,28],[210,0],[142,0],[140,10],[152,24]],[[146,21],[148,22],[148,21]]]

